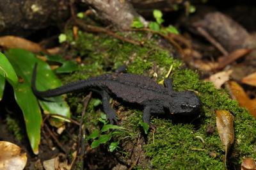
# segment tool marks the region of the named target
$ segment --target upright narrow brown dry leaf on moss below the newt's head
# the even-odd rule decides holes
[[[225,110],[216,111],[216,125],[220,134],[221,143],[225,146],[225,162],[230,146],[234,143],[234,116]]]

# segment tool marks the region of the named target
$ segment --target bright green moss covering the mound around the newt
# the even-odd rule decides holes
[[[224,90],[215,89],[209,82],[202,82],[198,74],[188,69],[181,69],[180,61],[170,57],[168,51],[158,47],[153,40],[145,42],[144,47],[120,42],[106,35],[92,35],[79,32],[76,42],[70,38],[74,53],[84,58],[84,65],[79,71],[65,77],[66,82],[77,79],[85,79],[90,76],[112,72],[118,66],[127,64],[127,70],[131,73],[140,73],[153,77],[157,73],[158,81],[163,79],[171,65],[173,70],[170,77],[173,79],[175,91],[191,89],[198,91],[202,101],[202,112],[200,113],[200,124],[194,127],[190,124],[173,124],[172,121],[162,118],[152,118],[152,123],[157,126],[157,133],[148,134],[145,153],[151,159],[155,169],[225,169],[223,157],[224,148],[216,130],[217,109],[225,109],[234,114],[235,143],[228,162],[232,160],[232,166],[237,166],[243,157],[256,158],[256,121],[237,102],[230,100]],[[144,40],[145,35],[135,33],[128,35],[137,40]],[[156,67],[156,68],[154,68]],[[154,72],[155,71],[155,72]],[[84,94],[83,94],[84,95]],[[81,94],[70,100],[76,112],[81,112]],[[77,107],[78,105],[78,107]],[[96,112],[96,114],[95,114]],[[123,126],[129,128],[134,134],[143,132],[138,122],[141,120],[142,111],[123,111],[127,116],[122,120]],[[86,127],[92,129],[99,126],[99,108],[90,102],[86,113]],[[215,127],[213,134],[207,134],[207,126]],[[212,153],[216,157],[211,156]],[[140,169],[140,162],[138,164]]]

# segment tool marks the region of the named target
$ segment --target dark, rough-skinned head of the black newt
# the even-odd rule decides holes
[[[172,114],[188,115],[200,111],[201,102],[194,91],[175,92],[168,108]]]

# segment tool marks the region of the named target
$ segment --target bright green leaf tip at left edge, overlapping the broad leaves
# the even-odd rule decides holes
[[[0,52],[0,75],[5,77],[13,87],[18,83],[18,77],[6,56]]]

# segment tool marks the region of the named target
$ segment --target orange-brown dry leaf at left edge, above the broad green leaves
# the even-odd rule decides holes
[[[19,48],[31,52],[47,52],[38,43],[31,42],[19,36],[0,36],[0,46],[6,48]]]

